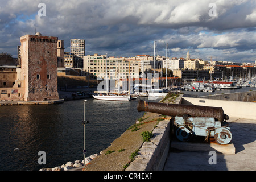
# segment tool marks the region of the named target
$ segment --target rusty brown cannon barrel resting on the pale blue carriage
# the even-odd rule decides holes
[[[158,113],[172,117],[179,116],[183,117],[184,119],[187,119],[187,117],[210,117],[215,118],[220,122],[223,122],[224,119],[229,119],[228,115],[224,113],[222,107],[166,104],[139,100],[137,110],[139,112],[147,111],[150,113]]]

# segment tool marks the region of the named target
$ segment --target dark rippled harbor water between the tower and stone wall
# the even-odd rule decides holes
[[[246,92],[256,88],[221,90],[218,94]],[[148,100],[142,97],[142,100]],[[138,113],[138,100],[129,102],[86,99],[86,155],[99,153],[133,125],[144,113]],[[158,102],[157,100],[148,100]],[[61,166],[83,159],[84,100],[65,101],[53,105],[13,105],[0,107],[0,170],[34,171]],[[39,151],[46,152],[46,164],[39,164]]]

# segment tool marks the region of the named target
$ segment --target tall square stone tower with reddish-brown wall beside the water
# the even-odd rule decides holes
[[[24,35],[21,42],[21,77],[24,79],[24,100],[59,99],[57,92],[57,37]]]

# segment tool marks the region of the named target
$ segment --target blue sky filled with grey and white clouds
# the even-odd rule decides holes
[[[39,6],[42,5],[45,6]],[[45,16],[44,16],[45,15]],[[255,62],[255,0],[0,0],[0,52],[17,57],[20,37],[41,32],[85,39],[86,55]]]

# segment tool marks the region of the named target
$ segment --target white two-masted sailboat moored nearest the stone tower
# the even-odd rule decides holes
[[[106,54],[106,69],[107,69],[107,54]],[[119,80],[119,76],[118,76]],[[130,101],[131,95],[130,94],[119,94],[119,85],[118,85],[118,94],[109,94],[109,81],[108,75],[106,71],[106,94],[98,94],[93,95],[93,98],[98,100],[107,100],[107,101]]]

